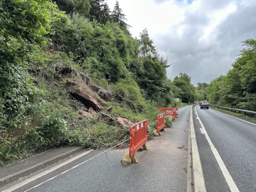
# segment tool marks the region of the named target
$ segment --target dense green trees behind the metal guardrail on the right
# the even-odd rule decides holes
[[[256,111],[256,40],[243,42],[245,49],[226,75],[208,85],[208,99],[212,104]]]

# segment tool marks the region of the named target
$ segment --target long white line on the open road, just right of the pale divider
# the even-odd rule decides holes
[[[231,192],[239,192],[239,189],[237,188],[237,185],[233,181],[233,178],[231,177],[228,169],[226,168],[224,162],[222,161],[222,158],[220,157],[217,149],[214,147],[213,143],[211,142],[211,139],[208,136],[208,133],[207,133],[206,129],[204,128],[203,123],[202,123],[202,121],[200,120],[200,118],[199,118],[199,116],[197,114],[196,108],[195,108],[195,112],[196,112],[196,116],[198,117],[198,120],[199,120],[199,122],[200,122],[200,124],[202,126],[202,129],[204,131],[204,135],[205,135],[205,137],[206,137],[206,139],[207,139],[207,141],[208,141],[208,143],[209,143],[209,145],[211,147],[211,151],[214,154],[216,161],[218,162],[218,166],[220,167],[220,169],[222,171],[222,174],[225,177],[226,182],[227,182],[227,184],[230,187]]]

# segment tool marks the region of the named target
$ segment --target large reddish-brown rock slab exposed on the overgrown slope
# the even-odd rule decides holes
[[[96,99],[90,94],[90,88],[85,84],[79,84],[72,79],[66,79],[67,83],[64,88],[70,90],[72,96],[82,102],[88,108],[92,108],[94,111],[101,110],[101,106],[98,104]]]

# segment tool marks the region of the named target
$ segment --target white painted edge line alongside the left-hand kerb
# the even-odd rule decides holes
[[[46,171],[35,175],[34,177],[30,177],[30,178],[27,179],[26,181],[23,181],[23,182],[21,182],[21,183],[19,183],[19,184],[15,184],[14,186],[12,186],[12,187],[10,187],[10,188],[8,188],[8,189],[5,189],[5,190],[2,191],[2,192],[11,192],[11,191],[14,191],[15,189],[20,188],[20,187],[22,187],[23,185],[28,184],[29,182],[34,181],[34,180],[36,180],[36,179],[38,179],[38,178],[40,178],[40,177],[42,177],[42,176],[44,176],[44,175],[46,175],[46,174],[52,172],[52,171],[54,171],[54,170],[60,168],[61,166],[67,165],[68,163],[70,163],[70,162],[72,162],[72,161],[74,161],[74,160],[76,160],[76,159],[82,157],[83,155],[86,155],[86,154],[90,153],[91,151],[94,151],[94,150],[90,150],[90,151],[86,151],[86,152],[84,152],[84,153],[81,153],[81,154],[79,154],[79,155],[77,155],[77,156],[75,156],[75,157],[73,157],[73,158],[71,158],[71,159],[69,159],[69,160],[67,160],[67,161],[65,161],[65,162],[60,163],[59,165],[56,165],[56,166],[52,167],[51,169],[47,169]]]

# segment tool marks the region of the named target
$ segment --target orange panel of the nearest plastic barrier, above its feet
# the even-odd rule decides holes
[[[129,156],[132,157],[147,142],[148,121],[143,120],[130,127],[130,149]]]

